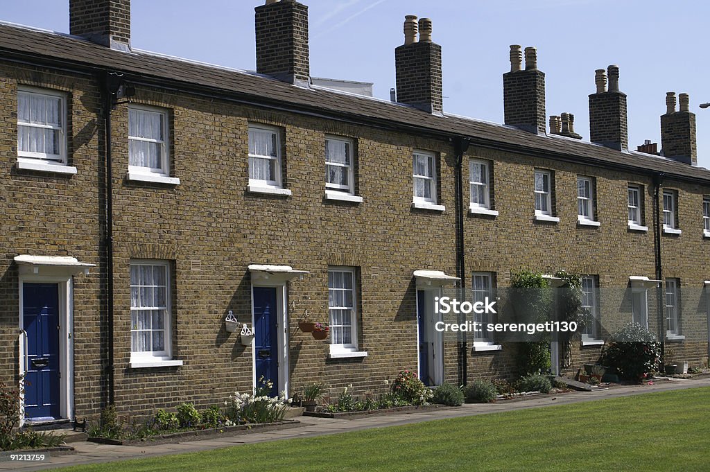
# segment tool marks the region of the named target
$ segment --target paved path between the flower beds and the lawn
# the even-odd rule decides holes
[[[263,433],[243,434],[234,437],[212,437],[200,441],[187,441],[178,444],[141,444],[140,446],[109,446],[92,442],[75,442],[77,453],[66,456],[51,457],[48,462],[10,462],[1,461],[0,471],[39,471],[62,466],[74,466],[88,463],[102,463],[119,461],[122,459],[136,459],[138,457],[163,456],[167,454],[181,454],[185,452],[209,451],[222,447],[237,446],[239,444],[252,444],[278,439],[295,437],[314,437],[324,434],[336,434],[360,429],[397,426],[400,424],[419,423],[433,419],[446,419],[485,415],[493,412],[525,410],[527,408],[547,407],[550,405],[568,405],[570,403],[588,402],[603,398],[628,397],[642,393],[665,392],[668,390],[681,390],[694,387],[710,387],[710,378],[703,379],[673,379],[670,383],[656,383],[655,385],[629,385],[616,387],[609,390],[595,390],[593,392],[572,392],[560,395],[540,395],[524,400],[506,403],[488,403],[463,405],[450,410],[428,412],[400,413],[396,415],[370,416],[359,419],[329,419],[299,417],[304,425],[293,429],[283,429]]]

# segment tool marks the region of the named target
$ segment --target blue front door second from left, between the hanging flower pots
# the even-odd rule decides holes
[[[256,386],[261,387],[261,378],[271,381],[275,397],[279,391],[276,287],[253,287],[253,304]]]

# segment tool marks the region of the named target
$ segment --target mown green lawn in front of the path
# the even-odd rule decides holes
[[[709,407],[694,388],[62,472],[705,471]]]

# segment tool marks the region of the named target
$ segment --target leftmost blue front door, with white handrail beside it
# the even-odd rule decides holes
[[[59,286],[25,283],[23,328],[27,332],[25,417],[60,417]]]

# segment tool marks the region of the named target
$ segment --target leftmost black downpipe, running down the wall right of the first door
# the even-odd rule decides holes
[[[111,165],[111,111],[119,89],[119,75],[107,72],[104,77],[104,138],[106,195],[104,197],[104,251],[106,256],[107,377],[109,405],[115,402],[114,385],[114,197]]]

